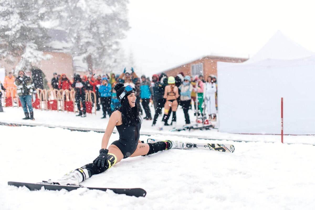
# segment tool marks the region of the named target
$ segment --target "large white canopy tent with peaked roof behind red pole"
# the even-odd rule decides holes
[[[315,134],[315,53],[278,31],[243,63],[218,62],[219,130]]]

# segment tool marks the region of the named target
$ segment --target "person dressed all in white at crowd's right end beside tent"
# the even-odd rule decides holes
[[[215,92],[217,91],[215,82],[211,76],[208,76],[206,82],[206,101],[209,119],[216,120],[216,108],[215,108]]]

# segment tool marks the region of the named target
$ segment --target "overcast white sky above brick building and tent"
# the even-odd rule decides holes
[[[280,30],[315,52],[313,1],[129,0],[122,41],[137,72],[152,75],[206,55],[248,58]],[[292,3],[294,2],[294,3]]]

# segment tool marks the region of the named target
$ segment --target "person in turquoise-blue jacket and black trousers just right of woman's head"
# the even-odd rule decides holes
[[[144,109],[144,112],[146,113],[146,117],[144,117],[143,119],[152,120],[151,111],[149,107],[150,98],[153,93],[151,82],[146,80],[145,75],[141,76],[141,80],[142,80],[142,82],[140,83],[140,97],[142,100],[141,104]]]

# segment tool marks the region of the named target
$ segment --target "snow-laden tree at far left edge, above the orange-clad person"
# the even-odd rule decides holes
[[[29,71],[43,56],[48,38],[42,21],[49,18],[54,3],[24,0],[0,0],[0,59],[12,63],[20,58],[15,70]]]

